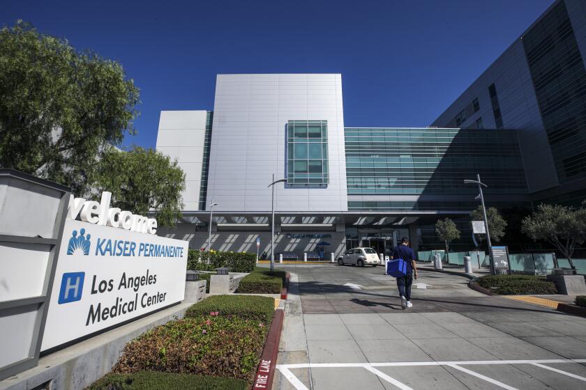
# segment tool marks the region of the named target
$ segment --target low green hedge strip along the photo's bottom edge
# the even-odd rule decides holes
[[[93,383],[89,390],[246,390],[244,380],[206,377],[193,374],[140,371],[133,374],[111,373]]]

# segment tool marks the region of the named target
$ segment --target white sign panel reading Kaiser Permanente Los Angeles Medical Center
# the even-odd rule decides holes
[[[41,350],[183,300],[187,251],[186,241],[66,219]]]

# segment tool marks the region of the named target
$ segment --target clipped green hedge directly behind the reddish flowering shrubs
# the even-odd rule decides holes
[[[275,300],[255,295],[213,295],[187,309],[186,317],[200,317],[218,312],[227,318],[264,322],[267,325],[275,315]]]

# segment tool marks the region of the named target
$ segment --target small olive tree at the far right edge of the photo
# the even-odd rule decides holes
[[[544,240],[556,247],[576,274],[572,256],[576,244],[586,241],[586,207],[541,204],[523,219],[523,233],[533,240]]]

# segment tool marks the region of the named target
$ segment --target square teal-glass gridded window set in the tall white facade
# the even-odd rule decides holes
[[[287,184],[323,187],[328,184],[326,120],[287,123]]]

